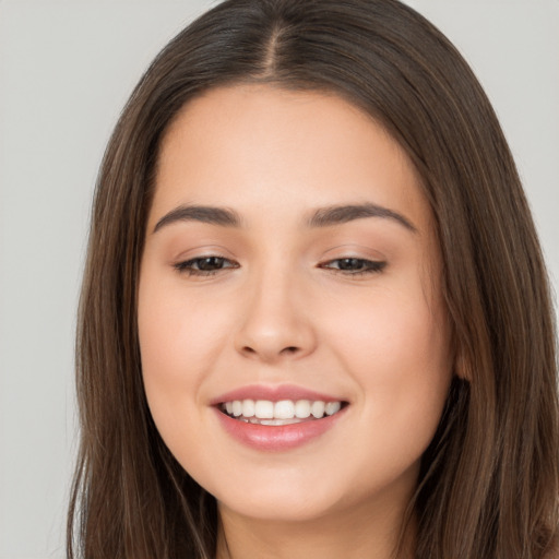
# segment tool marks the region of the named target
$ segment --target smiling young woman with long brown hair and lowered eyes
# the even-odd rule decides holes
[[[549,288],[496,116],[392,0],[228,0],[99,176],[69,557],[556,557]]]

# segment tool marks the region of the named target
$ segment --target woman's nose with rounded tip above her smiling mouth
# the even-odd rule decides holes
[[[317,332],[301,286],[288,274],[251,282],[235,346],[242,356],[275,364],[300,359],[317,345]],[[248,286],[247,286],[248,287]]]

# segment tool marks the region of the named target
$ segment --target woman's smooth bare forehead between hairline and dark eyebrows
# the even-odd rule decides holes
[[[293,211],[373,202],[426,222],[420,181],[397,142],[334,94],[270,85],[211,90],[165,134],[151,221],[204,203]]]

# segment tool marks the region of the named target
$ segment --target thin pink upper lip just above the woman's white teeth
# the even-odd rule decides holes
[[[238,389],[221,394],[211,400],[211,405],[233,402],[235,400],[270,400],[277,402],[281,400],[311,400],[322,402],[345,402],[346,400],[331,394],[324,394],[296,384],[248,384]]]

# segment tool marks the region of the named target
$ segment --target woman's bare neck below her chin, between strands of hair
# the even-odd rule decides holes
[[[307,521],[239,515],[219,504],[216,559],[412,559],[414,522],[401,542],[403,510],[337,511]]]

